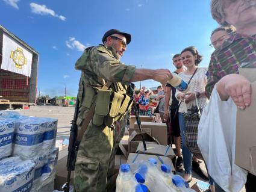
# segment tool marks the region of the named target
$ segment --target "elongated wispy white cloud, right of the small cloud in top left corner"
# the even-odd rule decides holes
[[[39,5],[39,4],[35,4],[34,2],[31,2],[30,8],[32,13],[40,14],[40,15],[49,14],[53,17],[58,17],[58,19],[66,20],[66,17],[56,14],[54,10],[47,8],[46,5]]]

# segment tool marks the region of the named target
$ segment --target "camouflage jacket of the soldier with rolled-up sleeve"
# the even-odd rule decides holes
[[[126,93],[126,85],[134,75],[135,66],[127,66],[116,58],[114,49],[107,48],[105,45],[98,45],[87,48],[83,55],[76,61],[75,69],[81,70],[81,78],[78,90],[80,99],[80,119],[86,118],[88,110],[88,98],[86,91],[88,87],[101,88],[107,81],[113,82],[110,89]],[[85,107],[85,108],[84,108]],[[79,122],[78,122],[79,124]]]

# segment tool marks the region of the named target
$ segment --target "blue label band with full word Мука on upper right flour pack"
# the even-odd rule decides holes
[[[24,146],[32,146],[43,142],[43,133],[26,135],[26,134],[15,134],[14,143]]]

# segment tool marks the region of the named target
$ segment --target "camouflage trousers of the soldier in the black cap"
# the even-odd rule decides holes
[[[125,132],[127,115],[113,126],[90,122],[84,132],[75,163],[76,192],[105,192],[114,176],[114,156]],[[113,180],[113,179],[112,179]],[[115,184],[115,183],[114,183]]]

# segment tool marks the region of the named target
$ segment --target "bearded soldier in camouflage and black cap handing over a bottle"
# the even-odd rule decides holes
[[[78,91],[80,106],[76,122],[79,130],[97,95],[95,112],[84,132],[76,158],[76,192],[107,191],[108,179],[113,175],[114,155],[125,131],[128,108],[118,120],[112,119],[112,123],[108,121],[110,114],[105,109],[112,102],[111,95],[132,96],[133,93],[127,93],[130,82],[146,79],[167,82],[172,78],[167,69],[136,69],[135,66],[120,63],[120,57],[130,42],[130,34],[110,29],[102,38],[104,45],[87,48],[75,64],[75,69],[81,70]],[[101,91],[107,81],[112,82],[110,87],[107,91]]]

